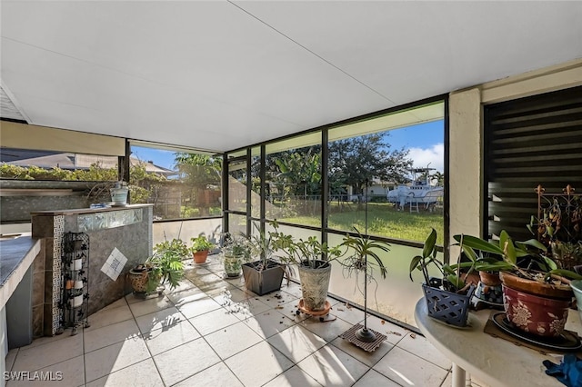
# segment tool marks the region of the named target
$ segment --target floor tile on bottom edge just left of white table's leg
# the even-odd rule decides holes
[[[440,387],[447,377],[447,371],[398,347],[386,353],[374,366],[391,380],[402,385]]]

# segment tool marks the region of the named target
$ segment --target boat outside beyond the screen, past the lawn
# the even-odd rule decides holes
[[[408,184],[399,184],[395,189],[386,193],[388,203],[396,204],[398,211],[403,211],[406,205],[410,212],[419,212],[424,207],[427,211],[433,211],[435,207],[442,203],[445,193],[444,187],[432,184],[430,171],[436,168],[412,168],[410,173],[412,179]]]

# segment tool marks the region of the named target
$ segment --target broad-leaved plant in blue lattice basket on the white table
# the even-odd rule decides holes
[[[410,262],[410,280],[412,273],[419,270],[423,273],[425,283],[422,284],[426,299],[428,315],[444,323],[463,327],[467,325],[468,307],[475,286],[463,281],[460,263],[450,266],[437,259],[437,231],[432,231],[426,237],[422,255],[416,255]],[[467,272],[470,273],[473,263],[469,263]],[[437,268],[442,278],[431,278],[428,270],[431,266]]]

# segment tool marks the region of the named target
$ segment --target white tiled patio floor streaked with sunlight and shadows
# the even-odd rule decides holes
[[[333,299],[331,317],[296,315],[296,283],[257,296],[241,278],[223,279],[217,257],[190,267],[174,291],[141,300],[133,294],[70,330],[12,350],[7,371],[62,372],[58,386],[424,386],[451,384],[451,363],[419,334],[375,316],[386,334],[375,352],[338,337],[364,313]],[[473,382],[473,385],[480,385]]]

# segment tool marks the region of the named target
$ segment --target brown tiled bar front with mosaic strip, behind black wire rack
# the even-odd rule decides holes
[[[86,233],[89,236],[87,281],[90,315],[131,292],[131,288],[125,283],[125,274],[136,263],[143,263],[152,253],[152,210],[152,205],[135,204],[32,213],[32,235],[42,238],[43,251],[39,257],[44,255],[45,258],[44,303],[42,308],[35,305],[33,320],[42,321],[44,335],[54,335],[62,320],[59,303],[62,281],[61,250],[65,233]],[[101,268],[115,248],[125,255],[127,262],[114,281]],[[35,331],[37,335],[38,329]]]

